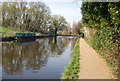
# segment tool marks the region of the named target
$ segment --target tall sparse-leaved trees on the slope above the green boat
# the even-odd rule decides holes
[[[5,27],[40,32],[48,29],[50,9],[43,2],[3,2],[2,17]]]

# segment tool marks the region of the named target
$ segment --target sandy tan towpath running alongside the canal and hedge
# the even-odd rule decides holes
[[[115,79],[112,69],[95,50],[80,38],[79,79]]]

